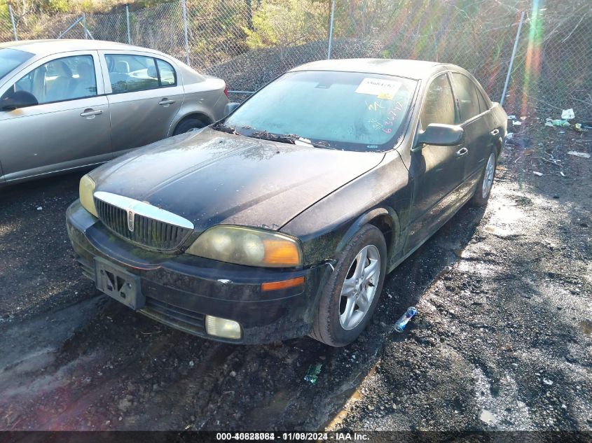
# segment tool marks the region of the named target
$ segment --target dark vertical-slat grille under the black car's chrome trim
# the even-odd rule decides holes
[[[102,223],[113,234],[132,243],[156,251],[175,251],[191,234],[186,227],[134,214],[134,230],[128,229],[128,211],[95,198],[95,207]]]

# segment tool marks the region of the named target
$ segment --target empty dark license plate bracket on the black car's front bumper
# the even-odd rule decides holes
[[[95,257],[95,276],[97,289],[118,302],[135,311],[146,304],[139,276],[100,257]]]

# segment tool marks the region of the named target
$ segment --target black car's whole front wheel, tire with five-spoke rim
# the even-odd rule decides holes
[[[362,285],[351,285],[352,282],[362,282],[354,279],[355,269],[359,253],[366,251],[364,267],[367,283]],[[380,262],[371,267],[372,260],[380,258]],[[360,260],[361,262],[361,260]],[[376,263],[376,261],[374,262]],[[329,277],[319,300],[319,310],[315,317],[310,337],[329,346],[346,346],[354,342],[368,325],[378,300],[383,290],[387,265],[387,246],[383,233],[376,226],[365,225],[352,238],[345,249],[340,253],[335,271]],[[376,269],[379,269],[378,278]],[[345,279],[350,281],[351,290],[345,289],[351,297],[342,296]],[[372,291],[373,293],[369,292]],[[370,296],[371,300],[366,298]],[[348,302],[348,299],[351,301]],[[362,308],[362,304],[365,305]],[[347,317],[345,309],[350,307],[350,316]],[[362,312],[364,311],[364,312]],[[362,316],[360,316],[363,314]],[[349,321],[347,321],[349,318]]]

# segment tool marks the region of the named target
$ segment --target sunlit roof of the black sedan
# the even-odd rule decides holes
[[[424,79],[432,76],[439,66],[451,65],[405,59],[334,59],[310,62],[291,71],[347,71]]]

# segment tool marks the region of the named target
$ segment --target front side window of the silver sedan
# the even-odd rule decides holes
[[[91,55],[52,60],[20,78],[4,97],[19,91],[33,94],[39,104],[95,96],[95,63]]]

